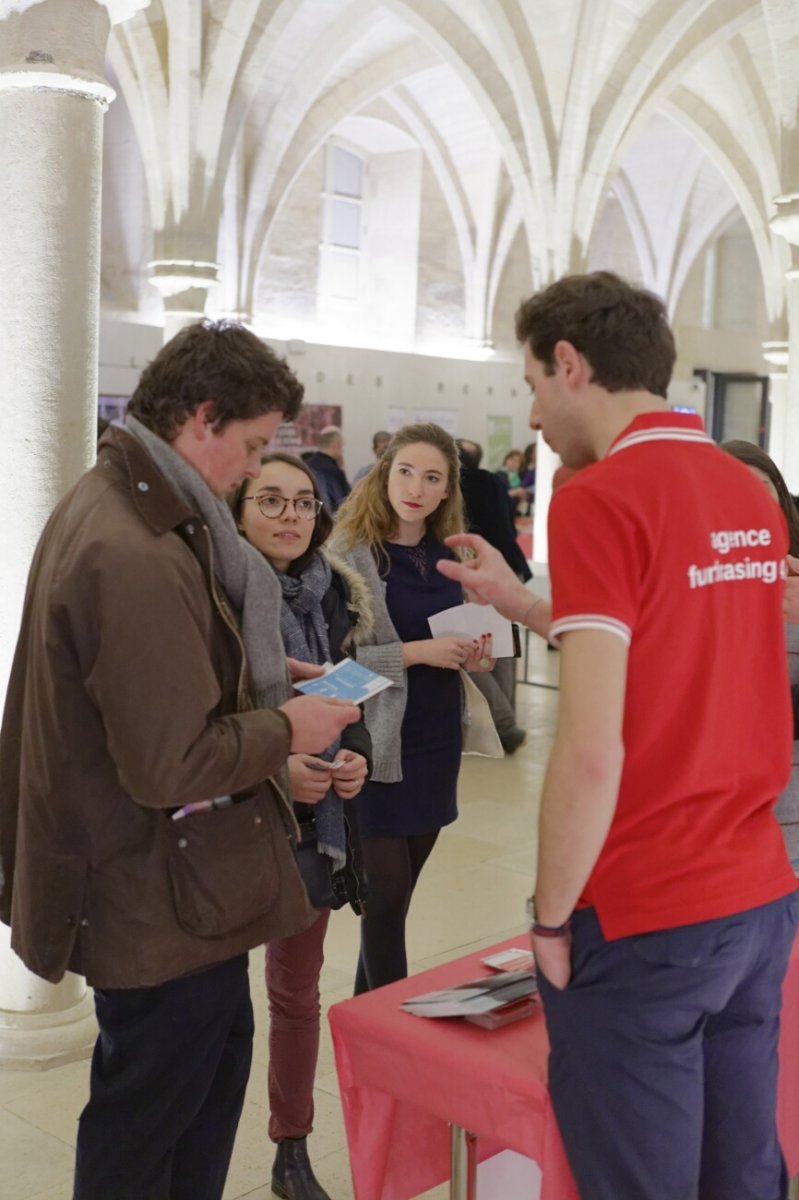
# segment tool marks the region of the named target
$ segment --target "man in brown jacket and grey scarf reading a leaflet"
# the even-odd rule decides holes
[[[301,398],[241,326],[182,330],[31,566],[0,731],[0,918],[32,972],[95,988],[74,1200],[220,1200],[247,950],[313,919],[280,776],[360,714],[289,698],[274,575],[221,500]]]

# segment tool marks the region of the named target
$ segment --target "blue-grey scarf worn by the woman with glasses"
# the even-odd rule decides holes
[[[301,575],[275,574],[283,594],[281,634],[286,653],[304,662],[328,662],[330,643],[322,601],[330,587],[330,564],[317,552]],[[336,738],[319,757],[332,762],[340,745],[341,738]],[[328,854],[336,869],[342,868],[347,860],[344,805],[332,787],[314,805],[313,820],[319,853]]]

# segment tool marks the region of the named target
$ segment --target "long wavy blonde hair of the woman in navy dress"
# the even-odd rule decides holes
[[[435,541],[463,533],[461,461],[455,439],[440,425],[405,425],[394,434],[383,456],[338,509],[334,538],[342,550],[367,545],[378,562],[388,566],[383,547],[397,528],[397,514],[389,503],[389,472],[400,450],[420,443],[434,446],[446,461],[446,498],[428,516],[425,533]]]

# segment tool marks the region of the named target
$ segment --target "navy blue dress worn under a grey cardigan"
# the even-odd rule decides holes
[[[417,546],[386,545],[386,606],[401,641],[431,637],[427,618],[461,604],[461,584],[435,570],[452,552],[425,535]],[[451,824],[458,815],[461,680],[457,671],[423,664],[408,670],[402,721],[402,781],[367,782],[356,797],[366,838],[410,838]]]

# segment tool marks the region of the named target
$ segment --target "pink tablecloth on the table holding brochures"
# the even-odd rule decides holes
[[[410,1200],[449,1178],[449,1122],[480,1138],[480,1158],[515,1150],[541,1168],[541,1200],[577,1200],[547,1092],[543,1015],[487,1031],[423,1020],[408,996],[479,976],[492,950],[468,954],[335,1004],[330,1026],[356,1200]],[[799,944],[783,994],[779,1121],[789,1174],[799,1171]]]

